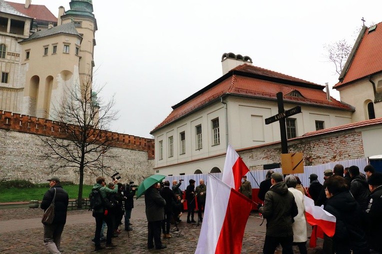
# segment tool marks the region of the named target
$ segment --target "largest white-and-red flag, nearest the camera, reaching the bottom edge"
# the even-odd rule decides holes
[[[252,202],[208,174],[203,223],[195,254],[240,254]]]

